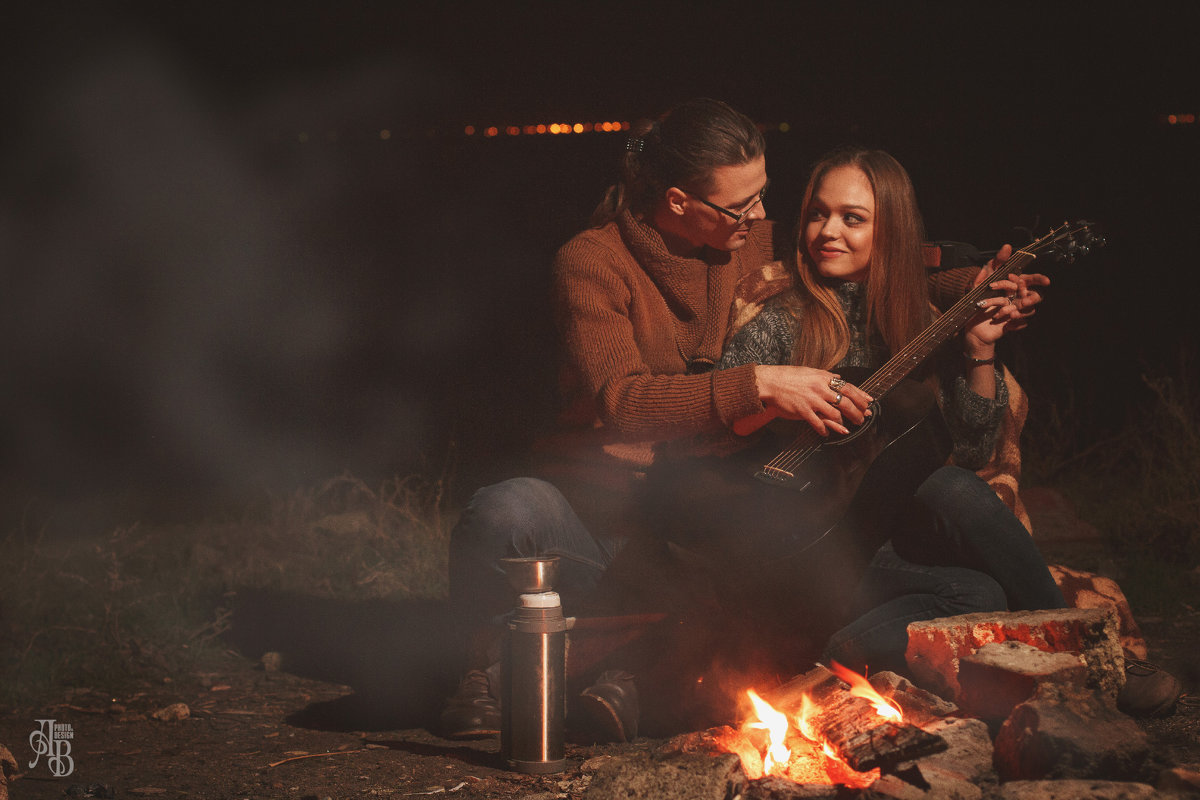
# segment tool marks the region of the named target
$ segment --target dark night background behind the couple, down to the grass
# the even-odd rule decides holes
[[[1158,121],[1200,113],[1192,4],[175,5],[6,24],[6,506],[149,513],[450,440],[463,491],[500,469],[552,405],[548,259],[620,142],[464,124],[709,95],[792,126],[779,219],[847,140],[908,167],[935,239],[1099,219],[1020,344],[1031,395],[1092,426],[1195,349],[1200,127]]]

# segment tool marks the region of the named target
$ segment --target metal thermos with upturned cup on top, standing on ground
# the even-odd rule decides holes
[[[504,559],[521,604],[504,638],[500,752],[518,772],[566,769],[566,620],[550,581],[558,559]],[[532,590],[532,591],[530,591]]]

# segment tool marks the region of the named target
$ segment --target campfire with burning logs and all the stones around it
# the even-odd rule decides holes
[[[1147,782],[1200,787],[1200,774],[1154,760],[1145,732],[1117,709],[1124,663],[1111,609],[913,622],[906,656],[916,682],[832,664],[780,686],[743,685],[738,727],[613,759],[588,796],[978,798],[997,784],[1028,787],[1014,798],[1063,787],[1082,792],[1063,796],[1096,796],[1094,781],[1154,796]]]

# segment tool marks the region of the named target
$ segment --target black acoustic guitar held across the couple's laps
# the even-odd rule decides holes
[[[950,451],[934,392],[908,375],[976,317],[980,300],[997,295],[990,283],[1024,272],[1034,259],[1075,260],[1104,243],[1094,228],[1055,228],[1015,251],[878,369],[840,371],[875,398],[871,415],[850,434],[822,437],[799,423],[798,433],[788,427],[782,446],[779,435],[767,434],[732,456],[655,469],[649,497],[660,530],[731,566],[824,559],[811,548],[834,531],[847,534],[839,539],[850,558],[869,558]]]

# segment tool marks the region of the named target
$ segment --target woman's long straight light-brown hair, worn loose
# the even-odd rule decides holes
[[[804,246],[805,223],[821,181],[833,169],[857,167],[875,192],[875,224],[870,270],[866,273],[868,336],[878,332],[896,353],[929,324],[929,285],[920,245],[924,227],[908,173],[882,150],[846,149],[822,158],[804,190],[797,231],[796,260],[799,277],[792,305],[799,320],[793,362],[829,369],[850,347],[850,329],[838,301],[836,281],[824,278]]]

